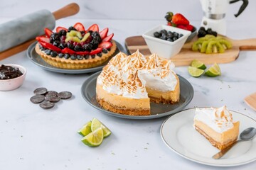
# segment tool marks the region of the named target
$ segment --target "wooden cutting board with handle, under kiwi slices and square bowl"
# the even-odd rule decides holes
[[[225,37],[227,38],[227,37]],[[191,61],[196,59],[200,60],[205,64],[213,64],[217,63],[227,63],[233,62],[239,56],[240,50],[256,50],[256,38],[251,38],[247,40],[233,40],[227,38],[233,43],[233,47],[230,50],[225,50],[224,53],[218,54],[203,54],[201,52],[193,52],[191,50],[191,46],[194,41],[198,38],[195,37],[191,42],[186,43],[183,45],[181,52],[178,55],[171,57],[171,61],[174,62],[176,66],[187,66],[191,64]],[[132,54],[137,49],[143,55],[151,55],[148,46],[142,36],[134,36],[125,39],[125,46],[127,47],[127,52]]]

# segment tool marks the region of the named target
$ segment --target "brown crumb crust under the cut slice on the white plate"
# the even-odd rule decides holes
[[[213,138],[209,137],[206,132],[204,132],[203,130],[201,130],[200,128],[198,128],[196,125],[195,125],[195,129],[196,131],[198,131],[201,135],[203,135],[204,137],[206,137],[206,139],[210,142],[211,145],[213,145],[213,147],[217,147],[218,149],[220,150],[223,150],[225,149],[226,147],[229,147],[230,145],[233,145],[233,143],[237,140],[230,140],[224,144],[221,144],[220,142],[217,142],[215,140],[213,140]]]

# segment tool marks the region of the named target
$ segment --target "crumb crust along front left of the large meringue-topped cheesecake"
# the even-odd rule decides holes
[[[124,109],[124,108],[117,108],[112,106],[110,103],[97,98],[97,102],[105,108],[107,111],[112,111],[114,113],[119,113],[123,115],[150,115],[150,110],[134,110],[134,109]]]

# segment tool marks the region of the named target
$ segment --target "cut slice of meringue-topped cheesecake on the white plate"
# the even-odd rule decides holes
[[[226,106],[196,108],[194,128],[220,150],[233,145],[238,139],[239,124],[239,121],[233,122],[233,116]]]

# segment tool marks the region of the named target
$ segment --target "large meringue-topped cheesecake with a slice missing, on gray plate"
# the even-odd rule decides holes
[[[179,101],[179,79],[173,69],[171,60],[156,54],[145,57],[139,50],[128,56],[119,52],[97,77],[97,101],[114,113],[150,115],[150,101]]]

